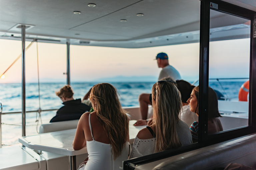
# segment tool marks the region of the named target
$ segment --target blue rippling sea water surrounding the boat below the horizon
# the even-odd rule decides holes
[[[119,98],[122,106],[138,106],[138,96],[141,93],[151,93],[151,88],[155,82],[129,82],[111,83],[120,94]],[[221,84],[220,84],[221,83]],[[220,91],[225,97],[238,100],[238,92],[244,81],[210,81],[209,85],[213,89]],[[88,90],[94,85],[93,82],[72,83],[74,98],[83,98]],[[63,87],[65,83],[41,83],[40,84],[40,107],[42,110],[58,109],[62,107],[61,100],[55,95],[55,91]],[[3,113],[21,111],[21,84],[0,84],[0,100],[3,105]],[[38,110],[39,93],[37,83],[26,84],[26,111]],[[55,116],[56,112],[42,112],[42,123],[48,123]],[[41,125],[41,121],[36,122],[37,113],[26,113],[26,135],[37,134],[36,129]],[[2,115],[2,144],[19,144],[21,137],[21,114]],[[38,124],[38,126],[37,126]]]

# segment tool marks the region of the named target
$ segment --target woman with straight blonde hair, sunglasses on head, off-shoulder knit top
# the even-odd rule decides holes
[[[153,85],[152,106],[153,124],[139,131],[129,159],[192,143],[189,126],[179,119],[181,95],[174,81],[162,80]]]

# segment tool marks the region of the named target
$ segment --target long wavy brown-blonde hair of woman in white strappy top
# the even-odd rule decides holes
[[[129,118],[122,109],[114,86],[96,84],[89,99],[95,101],[97,118],[103,125],[112,145],[114,159],[121,155],[129,132]]]

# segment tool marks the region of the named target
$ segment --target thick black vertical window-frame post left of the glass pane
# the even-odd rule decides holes
[[[199,63],[199,117],[198,143],[208,135],[210,0],[201,1],[200,9],[200,63]]]

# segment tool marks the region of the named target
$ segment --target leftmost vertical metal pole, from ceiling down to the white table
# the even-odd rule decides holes
[[[26,136],[26,90],[25,90],[25,32],[26,26],[21,26],[21,41],[22,41],[22,136]]]

